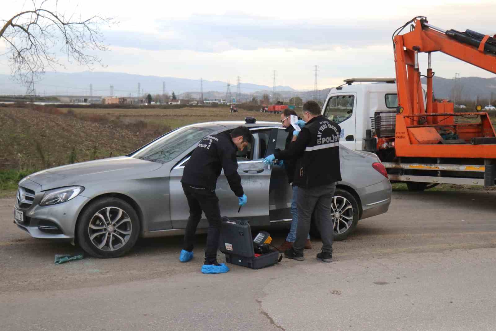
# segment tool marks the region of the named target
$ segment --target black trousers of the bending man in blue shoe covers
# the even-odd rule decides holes
[[[194,234],[201,219],[202,211],[208,220],[207,247],[205,249],[205,263],[212,264],[217,260],[217,248],[220,237],[220,209],[219,198],[214,190],[194,188],[183,184],[189,206],[189,218],[186,225],[184,249],[193,250]]]

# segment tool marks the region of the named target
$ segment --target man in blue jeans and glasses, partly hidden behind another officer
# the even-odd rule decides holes
[[[288,149],[293,140],[293,131],[294,128],[291,125],[290,116],[295,115],[296,111],[286,108],[281,113],[281,123],[282,126],[286,128],[286,132],[288,133],[288,137],[286,138],[286,144],[284,149]],[[299,124],[303,126],[305,122],[301,121]],[[295,176],[295,164],[296,160],[284,160],[284,168],[286,169],[286,174],[288,176],[288,182],[291,184],[293,182],[293,178]],[[286,241],[278,248],[279,251],[285,251],[286,249],[292,248],[293,243],[296,240],[296,229],[298,226],[298,209],[296,207],[296,197],[298,196],[298,186],[293,184],[293,199],[291,201],[291,214],[293,215],[293,221],[291,222],[291,230],[286,237]],[[307,241],[305,242],[305,249],[311,249],[310,235],[307,236]]]

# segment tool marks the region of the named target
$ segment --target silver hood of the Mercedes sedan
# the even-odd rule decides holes
[[[35,172],[24,177],[42,186],[42,190],[52,188],[82,185],[88,182],[102,180],[129,179],[133,174],[149,172],[160,168],[162,164],[129,157],[117,157],[73,165],[62,165],[55,168]]]

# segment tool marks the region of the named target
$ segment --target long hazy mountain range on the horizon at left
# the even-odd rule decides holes
[[[35,82],[36,93],[39,95],[90,95],[90,84],[94,96],[110,95],[111,85],[116,96],[136,96],[138,83],[143,92],[162,94],[162,84],[165,82],[166,93],[176,94],[187,91],[200,91],[200,80],[190,80],[174,77],[142,76],[124,73],[81,72],[57,73],[47,72],[40,82]],[[276,86],[278,91],[294,91],[290,86]],[[204,94],[208,91],[226,92],[227,83],[203,80]],[[253,94],[260,90],[272,90],[271,86],[252,83],[242,83],[241,92]],[[236,84],[231,85],[231,92],[237,91]],[[24,94],[26,86],[11,81],[9,75],[0,75],[0,94]],[[141,92],[140,92],[141,94]]]

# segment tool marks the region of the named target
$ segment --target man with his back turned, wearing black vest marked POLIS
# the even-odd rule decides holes
[[[298,139],[288,150],[277,151],[265,158],[265,162],[298,158],[293,184],[298,185],[298,227],[293,248],[284,252],[288,258],[301,261],[311,215],[322,238],[322,252],[317,258],[332,262],[332,236],[334,225],[331,218],[331,199],[336,182],[341,180],[339,165],[339,134],[341,128],[320,114],[315,101],[303,106],[303,120],[307,123]]]

